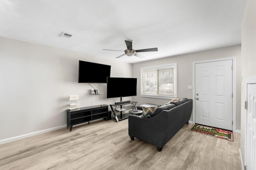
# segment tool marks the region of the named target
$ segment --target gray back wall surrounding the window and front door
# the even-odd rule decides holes
[[[140,68],[148,66],[157,66],[164,64],[177,63],[177,98],[189,98],[192,99],[192,89],[188,89],[188,85],[192,85],[192,63],[194,61],[205,61],[211,59],[220,59],[227,57],[236,57],[236,130],[240,130],[240,76],[241,76],[241,45],[234,45],[231,47],[224,47],[219,49],[213,49],[208,51],[202,51],[197,53],[190,53],[186,55],[168,57],[164,59],[158,59],[154,61],[147,61],[143,63],[136,63],[132,66],[132,76],[138,78],[137,84],[137,96],[133,97],[134,101],[138,101],[138,104],[158,104],[163,105],[170,100],[157,99],[157,98],[145,98],[140,97]],[[191,116],[190,120],[192,121]]]

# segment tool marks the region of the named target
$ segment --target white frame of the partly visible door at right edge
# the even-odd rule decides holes
[[[256,84],[256,76],[248,77],[245,80],[245,101],[247,101],[248,84]],[[244,108],[245,109],[245,108]],[[244,128],[244,166],[247,165],[247,118],[248,109],[245,109],[245,128]]]

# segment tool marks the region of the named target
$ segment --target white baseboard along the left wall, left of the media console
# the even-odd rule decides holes
[[[9,143],[9,142],[17,141],[19,139],[28,138],[28,137],[31,137],[31,136],[34,136],[34,135],[39,135],[41,133],[46,133],[46,132],[54,131],[54,130],[61,129],[61,128],[64,128],[64,127],[67,127],[67,125],[63,125],[63,126],[59,126],[59,127],[53,127],[53,128],[45,129],[45,130],[42,130],[42,131],[32,132],[32,133],[28,133],[28,134],[24,134],[24,135],[20,135],[20,136],[16,136],[16,137],[11,137],[11,138],[7,138],[7,139],[3,139],[3,140],[0,140],[0,145],[4,144],[4,143]]]

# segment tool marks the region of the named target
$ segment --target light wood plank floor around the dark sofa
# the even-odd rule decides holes
[[[95,121],[0,145],[0,170],[241,170],[240,134],[234,142],[184,127],[158,152],[130,140],[128,119]]]

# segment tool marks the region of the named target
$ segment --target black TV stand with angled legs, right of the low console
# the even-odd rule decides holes
[[[116,122],[119,122],[121,120],[127,119],[129,112],[123,114],[123,111],[126,110],[135,110],[136,109],[137,102],[130,101],[128,103],[122,103],[122,104],[110,104],[110,108],[113,112],[112,119],[116,120]],[[130,105],[130,107],[127,109],[127,107],[124,107],[124,105]],[[120,113],[120,115],[116,115],[116,113]]]

